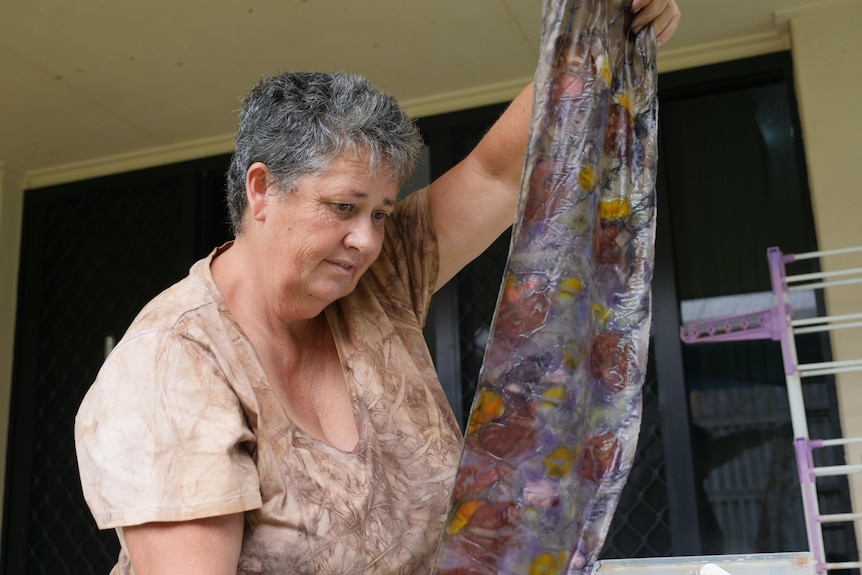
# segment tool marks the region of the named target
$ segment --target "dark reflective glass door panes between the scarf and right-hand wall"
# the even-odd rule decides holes
[[[663,80],[663,187],[681,321],[767,309],[767,249],[817,250],[790,54]],[[794,273],[817,271],[816,260],[796,265]],[[800,295],[796,312],[824,315],[812,292]],[[802,362],[830,359],[823,334],[797,346]],[[682,359],[702,552],[807,550],[780,344],[685,345]],[[806,379],[803,393],[813,433],[841,436],[833,378]],[[838,452],[818,457],[843,463]],[[818,485],[821,509],[849,508],[846,478]],[[825,538],[827,549],[847,553],[829,560],[855,559],[852,524],[831,524]]]

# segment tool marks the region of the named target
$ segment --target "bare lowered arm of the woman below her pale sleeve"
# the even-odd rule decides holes
[[[123,528],[137,575],[236,575],[243,514]]]

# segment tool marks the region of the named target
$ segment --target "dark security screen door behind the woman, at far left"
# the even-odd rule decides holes
[[[27,190],[2,570],[104,573],[113,530],[83,500],[73,423],[110,340],[227,236],[227,157]]]

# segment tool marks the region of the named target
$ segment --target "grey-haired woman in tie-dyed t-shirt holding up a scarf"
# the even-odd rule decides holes
[[[672,0],[633,6],[660,41],[676,28]],[[511,223],[529,116],[525,90],[396,204],[420,141],[389,96],[346,74],[252,90],[235,240],[141,311],[78,413],[112,573],[430,570],[461,437],[422,323]]]

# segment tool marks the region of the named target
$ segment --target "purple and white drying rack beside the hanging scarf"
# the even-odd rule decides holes
[[[862,513],[836,513],[822,515],[817,496],[817,478],[851,475],[862,472],[862,465],[832,465],[817,467],[813,451],[824,447],[862,443],[862,437],[812,439],[808,434],[802,379],[862,371],[862,359],[799,364],[796,354],[796,336],[808,333],[835,331],[862,327],[862,313],[793,319],[789,294],[803,290],[827,290],[836,286],[862,283],[862,267],[829,272],[788,275],[787,265],[793,262],[835,255],[862,254],[862,246],[836,250],[784,254],[777,247],[767,250],[769,275],[775,305],[758,312],[715,318],[683,326],[680,338],[686,343],[742,341],[772,339],[781,342],[790,416],[793,425],[797,473],[802,491],[806,533],[811,553],[817,562],[817,572],[835,569],[860,569],[862,562],[828,563],[823,540],[823,524],[856,522]]]

